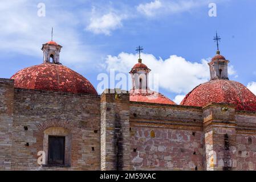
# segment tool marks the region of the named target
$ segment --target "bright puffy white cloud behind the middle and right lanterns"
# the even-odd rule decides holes
[[[106,68],[128,73],[136,63],[137,57],[135,54],[125,52],[119,53],[118,56],[108,55]],[[151,74],[159,76],[159,87],[169,92],[186,94],[195,86],[209,80],[209,59],[202,59],[200,63],[196,63],[177,55],[172,55],[165,60],[145,53],[142,57],[143,63],[152,69]],[[178,102],[181,96],[176,99]]]

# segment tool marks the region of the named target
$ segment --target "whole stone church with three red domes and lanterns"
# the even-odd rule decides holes
[[[256,96],[220,51],[177,105],[149,88],[147,60],[129,92],[99,95],[61,49],[47,42],[42,64],[0,78],[1,170],[256,170]]]

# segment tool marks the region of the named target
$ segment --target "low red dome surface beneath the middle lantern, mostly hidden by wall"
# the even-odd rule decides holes
[[[140,89],[131,89],[129,93],[130,101],[176,105],[175,102],[169,100],[169,98],[152,90],[147,90],[146,92],[145,90],[140,91]]]

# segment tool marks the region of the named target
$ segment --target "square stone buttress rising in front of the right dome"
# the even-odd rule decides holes
[[[206,170],[235,170],[237,167],[235,105],[203,107]]]

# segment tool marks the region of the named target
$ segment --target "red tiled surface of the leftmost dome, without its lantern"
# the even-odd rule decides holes
[[[11,79],[15,88],[97,94],[90,81],[61,64],[35,65],[15,73]]]

